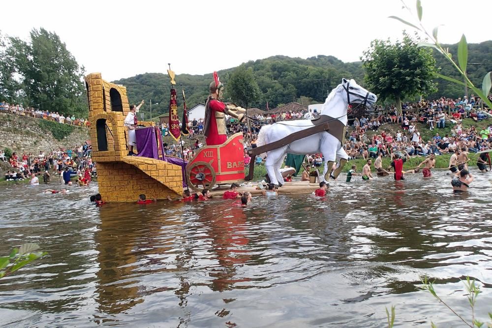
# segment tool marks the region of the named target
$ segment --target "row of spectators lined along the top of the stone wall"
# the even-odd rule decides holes
[[[49,112],[49,111],[41,111],[32,107],[24,108],[22,105],[14,105],[9,104],[6,101],[0,102],[0,112],[9,113],[21,116],[28,116],[36,119],[47,119],[54,122],[68,124],[68,125],[76,125],[76,126],[86,126],[89,127],[91,124],[87,119],[75,118],[75,116],[66,117],[63,114],[59,114],[58,112]]]

